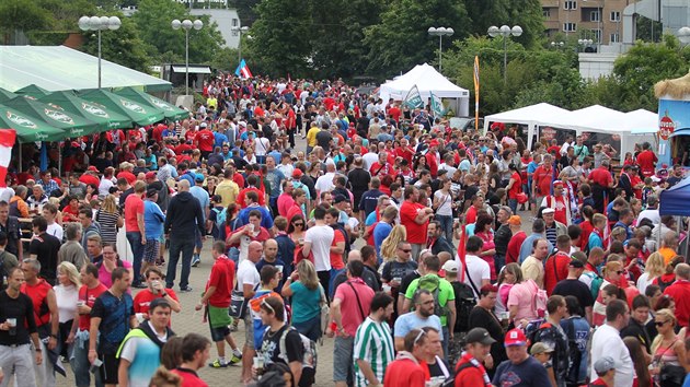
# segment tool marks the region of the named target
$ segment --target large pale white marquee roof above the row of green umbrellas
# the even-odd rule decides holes
[[[96,89],[97,57],[65,46],[0,46],[0,87],[15,91],[31,84],[47,91]],[[145,86],[158,92],[172,89],[168,81],[101,61],[102,87]]]

